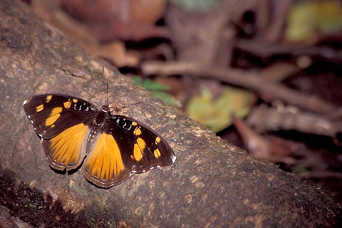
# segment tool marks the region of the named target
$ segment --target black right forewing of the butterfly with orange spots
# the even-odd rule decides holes
[[[112,115],[108,121],[128,170],[141,173],[175,162],[170,145],[147,125],[123,115]]]

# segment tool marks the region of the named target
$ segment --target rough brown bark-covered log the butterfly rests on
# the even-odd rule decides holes
[[[331,227],[341,208],[296,175],[250,157],[51,30],[28,6],[0,1],[1,221],[60,227]],[[108,69],[102,75],[102,67]],[[48,167],[22,108],[38,93],[67,93],[100,107],[135,103],[130,115],[170,142],[171,167],[133,175],[108,190],[81,172]],[[0,223],[1,223],[0,221]],[[5,221],[11,224],[13,221]]]

